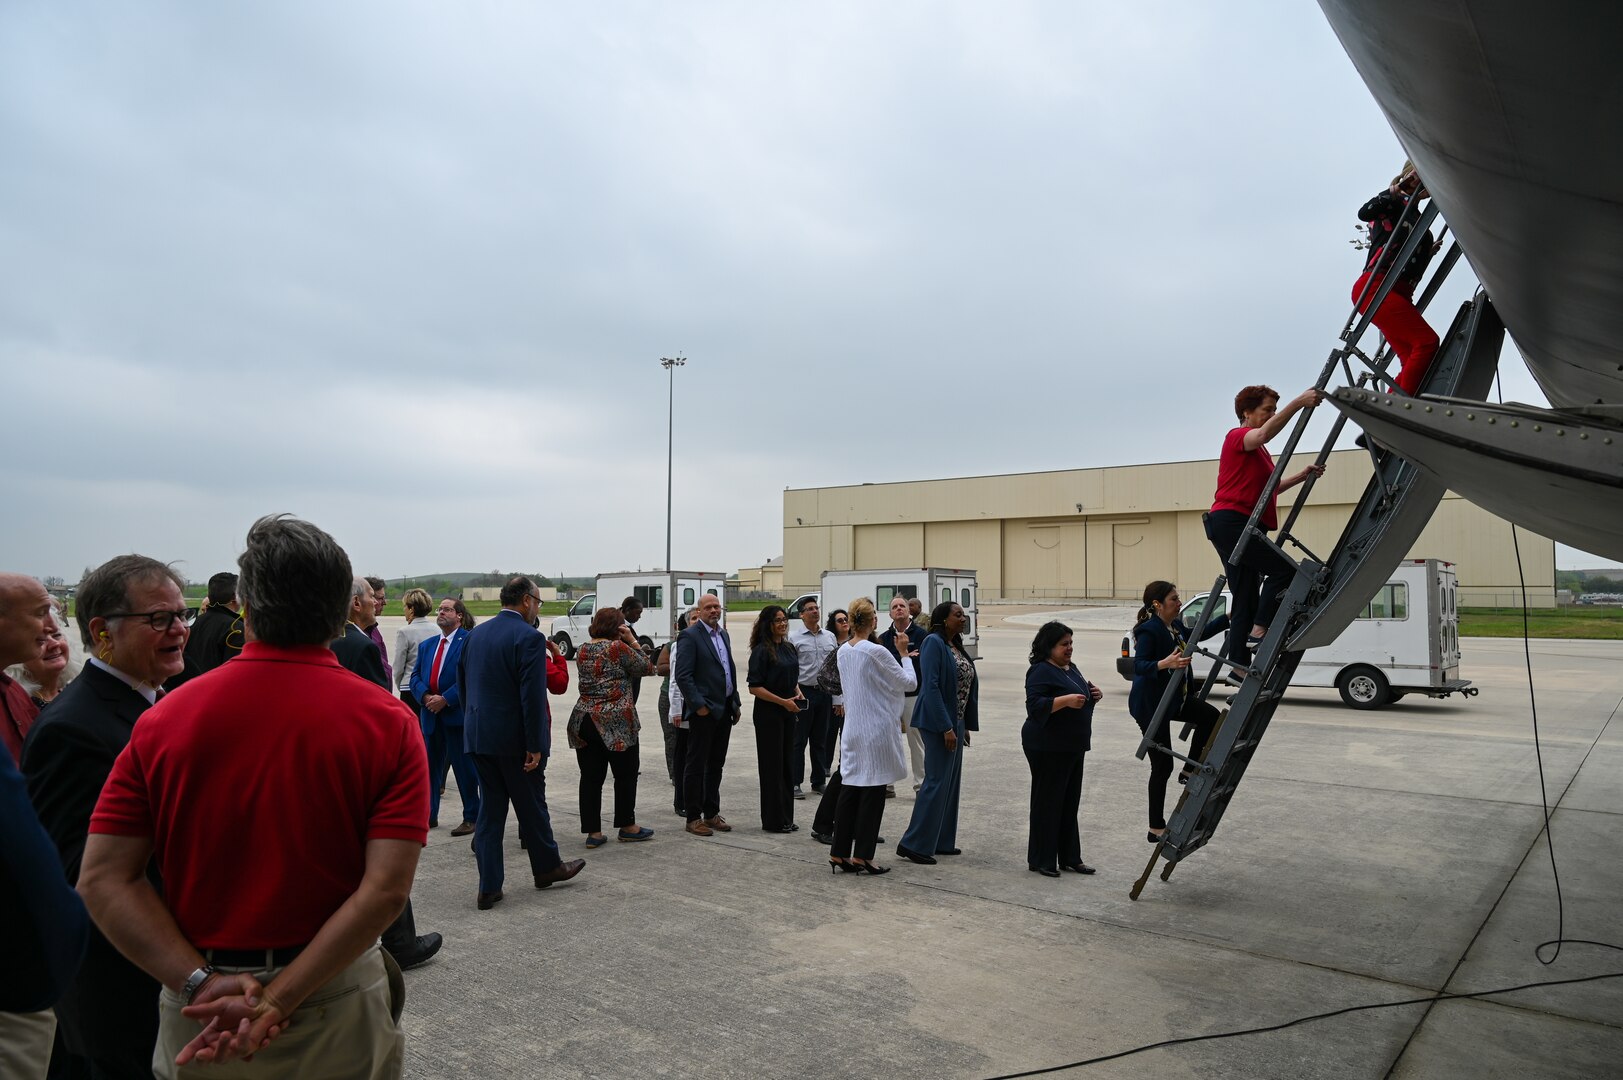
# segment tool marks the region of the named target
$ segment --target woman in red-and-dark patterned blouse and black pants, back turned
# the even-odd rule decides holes
[[[581,832],[588,848],[609,843],[602,832],[604,778],[613,771],[613,825],[623,841],[648,840],[652,828],[636,823],[636,771],[639,765],[636,705],[631,680],[649,671],[631,627],[618,607],[592,616],[591,640],[575,654],[581,700],[570,713],[570,745],[581,765]]]

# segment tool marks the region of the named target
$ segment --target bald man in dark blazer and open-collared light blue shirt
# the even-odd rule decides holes
[[[721,599],[714,593],[700,599],[695,620],[682,632],[675,679],[682,690],[682,719],[688,724],[688,762],[682,778],[688,832],[695,836],[717,830],[730,833],[732,825],[721,815],[721,771],[742,710],[732,638],[721,629]]]

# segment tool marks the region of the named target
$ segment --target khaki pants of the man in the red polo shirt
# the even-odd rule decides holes
[[[269,984],[279,968],[221,968],[253,971]],[[390,979],[383,952],[373,945],[355,963],[305,999],[292,1025],[250,1062],[224,1065],[175,1065],[175,1054],[196,1038],[196,1020],[180,1015],[180,997],[164,987],[157,996],[157,1048],[153,1074],[180,1077],[234,1077],[253,1080],[396,1080],[406,1065],[406,1035],[390,1015]]]

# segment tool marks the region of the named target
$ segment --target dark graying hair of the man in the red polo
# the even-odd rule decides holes
[[[331,536],[286,513],[248,528],[237,559],[237,598],[255,640],[266,645],[326,645],[349,619],[354,570]]]

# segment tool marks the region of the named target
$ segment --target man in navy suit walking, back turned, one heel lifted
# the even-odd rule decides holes
[[[479,773],[474,854],[479,861],[476,901],[480,911],[502,900],[502,833],[510,802],[529,851],[536,888],[566,882],[586,866],[584,859],[563,861],[547,815],[552,715],[547,705],[547,648],[540,632],[531,625],[539,614],[536,585],[523,575],[510,578],[502,586],[502,611],[469,632],[458,661],[463,739]]]

